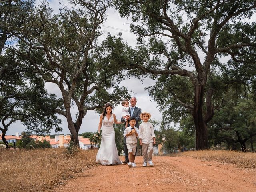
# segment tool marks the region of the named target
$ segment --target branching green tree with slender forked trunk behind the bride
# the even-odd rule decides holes
[[[126,46],[120,36],[108,36],[100,44],[100,24],[110,6],[108,0],[72,0],[72,8],[53,14],[47,4],[33,6],[20,27],[10,29],[18,42],[9,46],[25,66],[61,94],[54,112],[67,119],[71,140],[78,146],[78,132],[88,110],[102,111],[106,102],[117,103],[126,94],[119,62]],[[76,118],[71,115],[76,109]]]

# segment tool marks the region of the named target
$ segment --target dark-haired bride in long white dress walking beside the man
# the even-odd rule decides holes
[[[100,128],[102,127],[102,140],[96,155],[96,162],[102,165],[121,164],[115,143],[115,130],[113,123],[121,124],[122,122],[116,120],[115,114],[112,113],[113,108],[114,106],[112,106],[112,104],[106,103],[104,106],[104,112],[100,115],[98,132],[100,132]]]

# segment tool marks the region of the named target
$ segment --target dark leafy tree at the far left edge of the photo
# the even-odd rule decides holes
[[[0,130],[6,148],[5,134],[16,121],[37,134],[48,133],[54,128],[61,130],[58,126],[61,121],[54,115],[60,100],[48,94],[44,80],[10,49],[16,44],[12,31],[26,22],[33,6],[31,0],[0,2]]]

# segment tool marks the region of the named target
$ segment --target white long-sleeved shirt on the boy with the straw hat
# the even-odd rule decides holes
[[[142,139],[142,143],[151,143],[153,137],[156,137],[153,124],[150,122],[142,122],[139,126],[139,132],[139,139]]]

